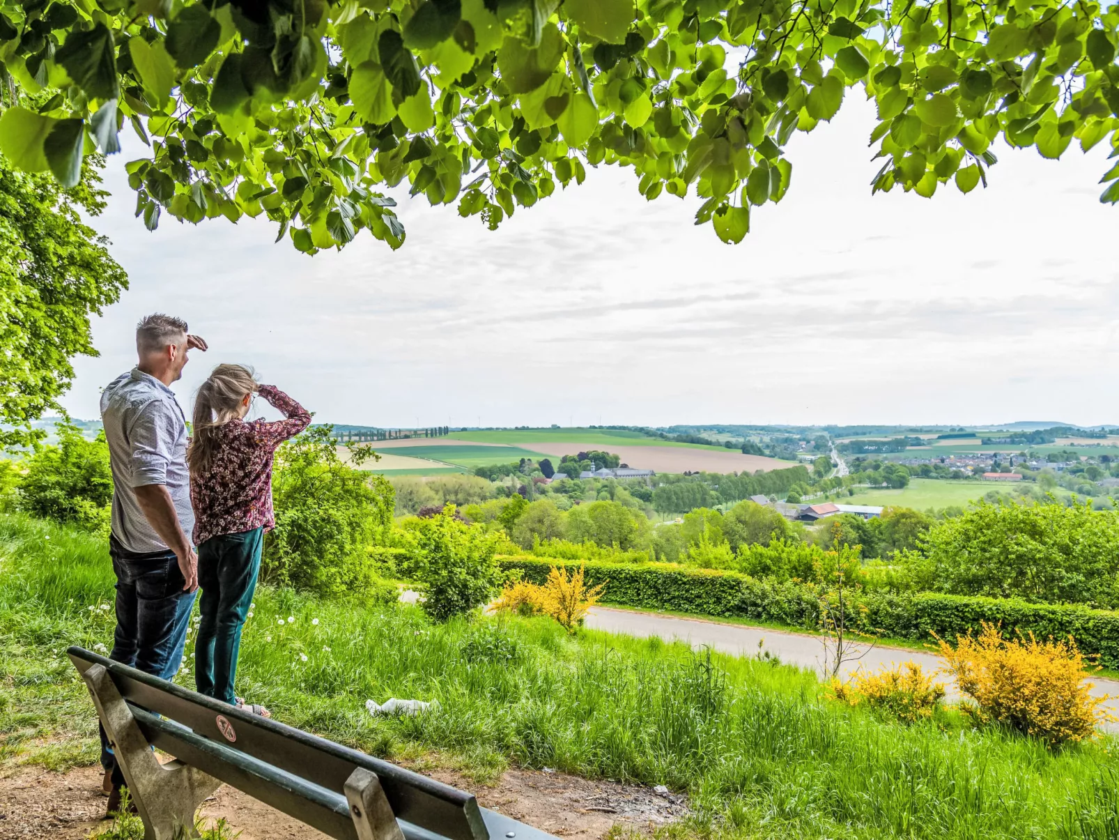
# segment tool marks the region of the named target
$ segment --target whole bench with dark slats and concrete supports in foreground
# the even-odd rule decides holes
[[[198,837],[195,813],[222,783],[338,840],[556,840],[389,762],[82,647],[67,654],[93,696],[144,840]],[[152,747],[175,760],[160,764]]]

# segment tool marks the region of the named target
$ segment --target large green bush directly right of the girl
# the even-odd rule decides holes
[[[328,595],[384,592],[368,548],[389,536],[393,487],[344,464],[331,435],[331,427],[316,427],[276,450],[276,526],[264,541],[261,578]],[[350,463],[367,455],[358,447]]]

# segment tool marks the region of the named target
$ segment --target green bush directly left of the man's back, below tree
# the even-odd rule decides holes
[[[104,433],[86,440],[69,422],[58,423],[57,446],[44,446],[26,461],[19,506],[34,516],[107,530],[113,473]]]

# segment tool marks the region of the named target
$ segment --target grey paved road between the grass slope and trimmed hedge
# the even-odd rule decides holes
[[[666,641],[680,640],[693,647],[709,645],[716,651],[736,656],[753,656],[758,653],[758,643],[762,650],[780,656],[782,662],[810,669],[820,673],[824,661],[824,643],[819,636],[806,633],[789,633],[786,631],[763,627],[746,627],[739,624],[720,624],[705,622],[702,618],[679,618],[677,616],[657,613],[634,613],[629,609],[611,609],[610,607],[592,607],[586,617],[586,626],[610,633],[624,633],[630,636],[647,638],[660,636]],[[877,671],[884,665],[896,666],[903,662],[916,662],[925,672],[935,671],[941,666],[940,657],[933,653],[906,651],[899,647],[874,647],[859,662],[847,663],[844,672],[849,674],[859,666]],[[949,697],[958,697],[951,680],[941,676],[948,684]],[[1097,697],[1111,694],[1107,708],[1119,717],[1119,682],[1094,679],[1092,693]],[[1119,725],[1109,725],[1109,730],[1119,731]]]

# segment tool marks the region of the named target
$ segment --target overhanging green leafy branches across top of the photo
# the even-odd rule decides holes
[[[397,248],[379,190],[404,179],[492,228],[621,164],[739,242],[853,87],[874,192],[970,192],[999,134],[1119,142],[1117,25],[1090,0],[0,0],[0,151],[72,185],[130,125],[149,228],[265,214],[304,252]],[[1119,200],[1119,166],[1102,180]]]

